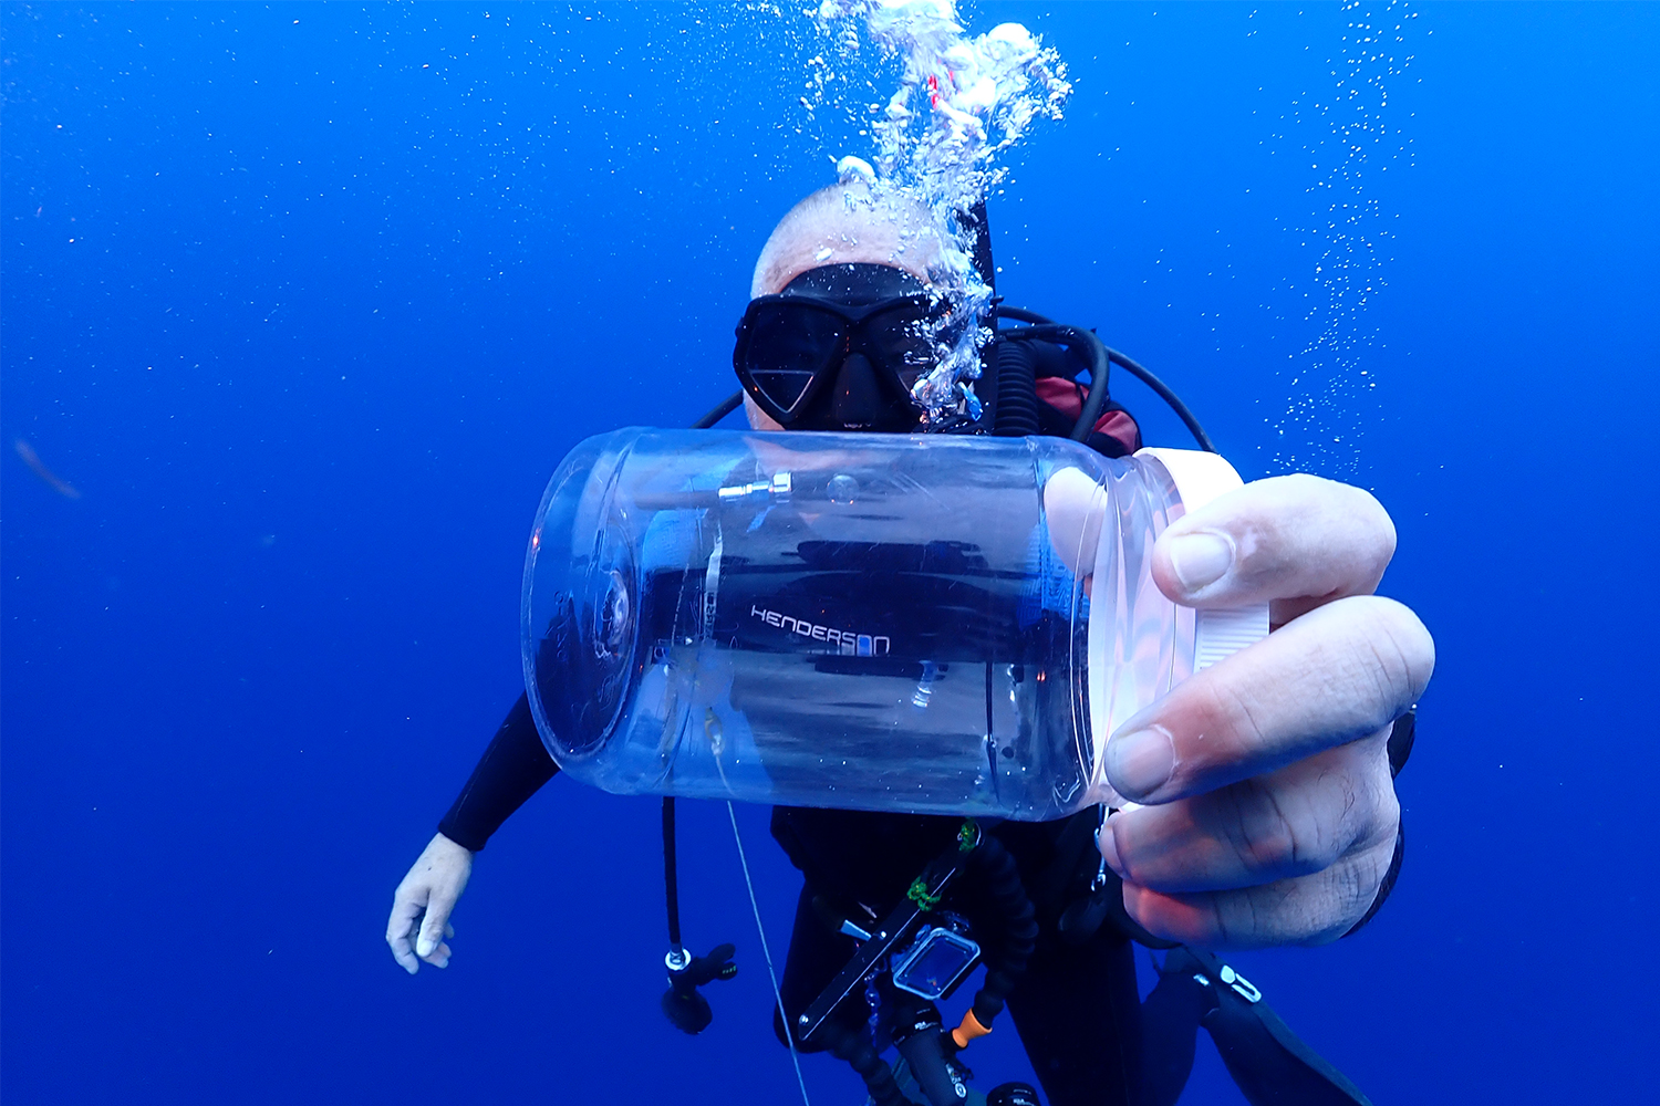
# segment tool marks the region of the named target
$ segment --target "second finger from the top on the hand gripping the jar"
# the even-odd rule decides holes
[[[1374,735],[1429,683],[1434,642],[1391,599],[1355,595],[1184,680],[1107,741],[1107,781],[1169,803]]]

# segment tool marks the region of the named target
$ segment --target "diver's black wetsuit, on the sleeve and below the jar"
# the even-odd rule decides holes
[[[1409,745],[1411,726],[1398,728],[1391,761],[1404,763]],[[483,849],[508,816],[558,771],[526,698],[520,696],[438,824],[440,832],[475,852]],[[848,914],[860,907],[885,914],[953,841],[958,826],[953,817],[774,809],[774,837],[805,876],[780,983],[790,1016],[807,1008],[855,948],[852,937],[820,920],[812,897],[822,895]],[[1019,864],[1039,929],[1038,948],[1008,998],[1008,1011],[1051,1106],[1170,1103],[1192,1066],[1194,1030],[1205,1013],[1195,1005],[1199,992],[1160,985],[1140,1003],[1135,945],[1122,920],[1109,920],[1077,943],[1061,934],[1061,914],[1099,872],[1094,827],[1096,814],[1086,811],[1056,822],[1003,822],[994,831]],[[1399,862],[1398,847],[1379,904]],[[1119,882],[1111,871],[1106,876],[1104,894],[1116,902]],[[996,940],[996,912],[973,885],[946,905],[966,914],[983,942]]]

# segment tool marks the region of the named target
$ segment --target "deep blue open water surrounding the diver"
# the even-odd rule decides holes
[[[1326,388],[1308,104],[1356,10],[969,15],[1077,85],[993,202],[1001,290],[1099,325],[1247,476],[1373,488],[1438,638],[1388,909],[1235,962],[1378,1103],[1647,1099],[1660,7],[1421,8],[1374,342],[1290,421]],[[742,963],[702,1038],[656,1007],[651,799],[536,796],[445,972],[382,930],[520,690],[543,481],[734,388],[755,250],[850,153],[798,129],[802,17],[7,5],[3,38],[0,1094],[797,1099],[720,808],[682,827],[687,937]],[[739,814],[779,957],[797,880]],[[974,1046],[983,1086],[1016,1045]],[[1205,1041],[1185,1101],[1242,1101]]]

